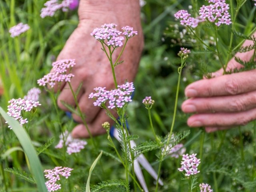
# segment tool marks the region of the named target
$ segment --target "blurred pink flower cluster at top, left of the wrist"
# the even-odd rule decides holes
[[[44,4],[44,8],[41,9],[41,18],[45,18],[46,16],[54,16],[57,10],[62,9],[63,12],[66,12],[70,4],[72,4],[73,0],[63,0],[62,2],[58,2],[58,0],[49,0]]]

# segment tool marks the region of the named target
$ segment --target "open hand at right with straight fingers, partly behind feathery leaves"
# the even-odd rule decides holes
[[[252,41],[246,40],[243,46],[249,44]],[[253,52],[237,53],[236,56],[249,61]],[[227,71],[241,67],[232,58]],[[222,74],[223,69],[220,69],[212,74],[214,78],[198,80],[186,87],[188,99],[183,102],[182,111],[195,113],[188,118],[188,126],[204,126],[207,132],[214,132],[256,119],[256,70]]]

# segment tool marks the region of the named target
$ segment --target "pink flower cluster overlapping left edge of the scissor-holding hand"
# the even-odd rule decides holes
[[[51,88],[54,87],[56,82],[70,82],[73,74],[67,74],[69,68],[75,65],[74,59],[63,59],[52,63],[52,72],[46,74],[43,78],[38,79],[37,83],[40,86],[46,86],[48,84]]]

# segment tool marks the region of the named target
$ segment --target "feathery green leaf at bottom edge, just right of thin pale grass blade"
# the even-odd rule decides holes
[[[129,186],[126,186],[124,180],[107,180],[95,185],[92,192],[124,192],[126,188],[129,189]]]

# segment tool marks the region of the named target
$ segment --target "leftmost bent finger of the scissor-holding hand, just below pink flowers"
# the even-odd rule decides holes
[[[80,77],[79,76],[74,76],[72,78],[72,80],[70,81],[70,85],[72,87],[72,90],[73,92],[76,94],[77,92],[77,89],[78,87],[80,86],[81,84],[81,80],[80,80]],[[84,93],[84,88],[83,86],[80,88],[77,96],[76,96],[76,99],[79,100],[80,97],[82,96],[82,94]],[[65,84],[64,88],[62,89],[62,91],[60,92],[60,95],[58,96],[58,106],[62,109],[62,110],[68,110],[68,108],[66,108],[62,102],[65,102],[66,104],[70,105],[70,106],[73,106],[75,107],[76,106],[76,103],[75,103],[75,100],[74,100],[74,96],[72,94],[72,91],[70,89],[70,86],[68,83]]]

